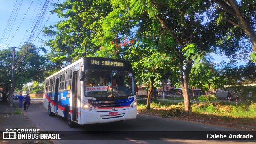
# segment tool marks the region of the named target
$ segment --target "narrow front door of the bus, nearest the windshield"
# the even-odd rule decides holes
[[[78,72],[79,71],[75,71],[73,73],[73,105],[72,105],[72,120],[77,121],[77,115],[78,115],[78,111],[77,111],[77,97],[78,97]]]

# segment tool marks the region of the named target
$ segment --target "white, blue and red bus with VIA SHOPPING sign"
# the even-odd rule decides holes
[[[77,124],[136,119],[132,65],[120,59],[86,57],[45,79],[44,107],[49,116]]]

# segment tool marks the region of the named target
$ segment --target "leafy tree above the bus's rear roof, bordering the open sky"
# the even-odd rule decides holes
[[[112,10],[108,0],[66,0],[62,4],[53,4],[52,10],[64,18],[45,27],[43,32],[55,39],[46,41],[51,47],[52,62],[61,67],[88,55],[94,55],[100,49],[92,43],[92,38],[98,33],[98,20]]]

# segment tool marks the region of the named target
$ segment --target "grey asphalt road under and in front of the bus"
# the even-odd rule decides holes
[[[24,115],[40,130],[60,133],[60,144],[171,144],[171,143],[220,143],[218,140],[189,140],[206,133],[221,131],[227,134],[246,131],[245,129],[202,124],[172,118],[160,118],[137,115],[135,120],[112,122],[107,124],[89,124],[70,128],[67,121],[60,116],[48,116],[42,99],[32,99]],[[189,135],[189,136],[188,136]],[[201,136],[202,137],[202,136]],[[193,139],[193,138],[192,138]],[[75,140],[75,141],[74,141]],[[240,143],[237,140],[225,143]],[[242,141],[250,142],[250,141]]]

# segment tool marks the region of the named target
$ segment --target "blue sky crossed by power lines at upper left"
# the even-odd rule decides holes
[[[64,0],[48,1],[64,2]],[[54,25],[61,18],[49,12],[54,9],[50,3],[45,8],[45,15],[40,14],[45,2],[47,0],[0,0],[0,50],[7,47],[21,47],[29,40],[40,47],[42,45],[40,39],[51,39],[44,36],[41,30],[44,26]],[[49,50],[49,47],[46,48]]]

